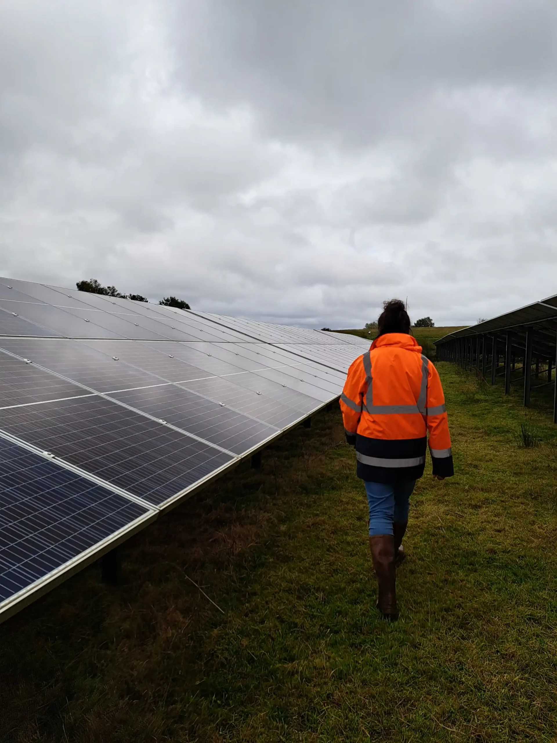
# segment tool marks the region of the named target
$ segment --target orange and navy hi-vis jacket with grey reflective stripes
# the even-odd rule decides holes
[[[441,380],[411,335],[386,333],[374,340],[348,369],[340,409],[362,480],[421,477],[428,432],[433,474],[454,475]]]

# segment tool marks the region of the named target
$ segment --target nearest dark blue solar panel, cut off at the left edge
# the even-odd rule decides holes
[[[154,517],[0,438],[0,612]]]

